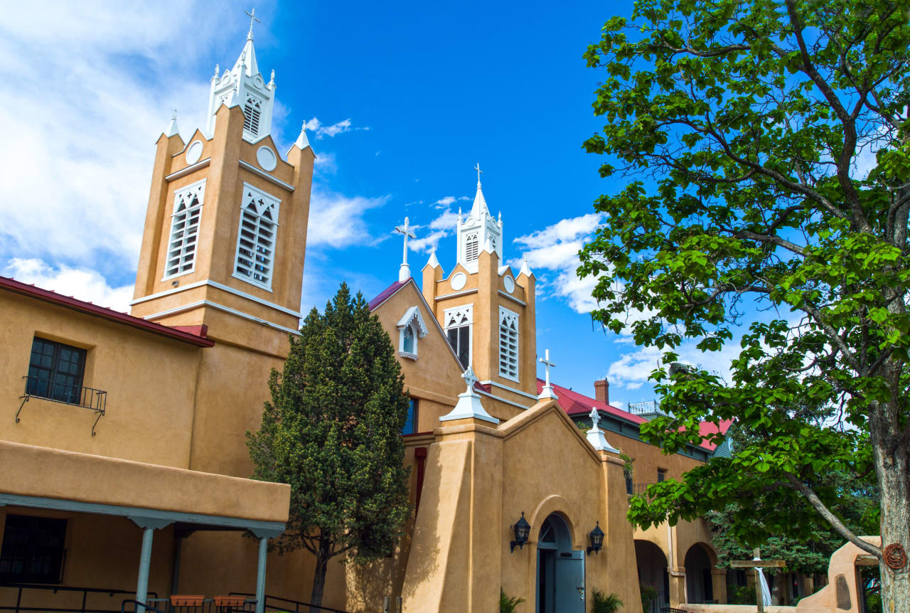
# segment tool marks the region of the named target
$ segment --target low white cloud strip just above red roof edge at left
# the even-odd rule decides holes
[[[111,287],[97,271],[61,266],[53,268],[44,261],[14,258],[7,262],[4,275],[65,296],[94,302],[115,311],[128,312],[133,286]]]

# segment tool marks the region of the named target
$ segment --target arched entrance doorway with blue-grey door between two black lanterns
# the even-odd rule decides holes
[[[584,613],[584,552],[571,548],[562,516],[543,520],[537,538],[537,613]]]

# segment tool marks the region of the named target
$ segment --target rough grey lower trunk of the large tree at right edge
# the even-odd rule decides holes
[[[870,417],[875,472],[882,496],[882,551],[884,554],[885,547],[897,543],[910,556],[910,451],[898,443],[901,431],[892,425],[898,420],[882,419],[875,412]],[[894,570],[883,556],[879,570],[883,613],[910,611],[910,564]]]

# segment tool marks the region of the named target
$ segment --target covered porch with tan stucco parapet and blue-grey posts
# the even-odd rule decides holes
[[[181,574],[206,577],[196,595],[207,603],[246,592],[219,602],[264,610],[288,485],[3,441],[0,465],[0,610],[167,608]],[[236,533],[244,559],[181,568],[182,543],[199,531]],[[226,565],[245,570],[217,572]]]

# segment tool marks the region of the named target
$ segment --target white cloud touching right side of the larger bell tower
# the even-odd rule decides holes
[[[389,196],[349,197],[314,186],[309,200],[307,249],[339,249],[365,241],[372,242],[373,238],[369,235],[363,216],[369,209],[381,207],[388,200]]]

